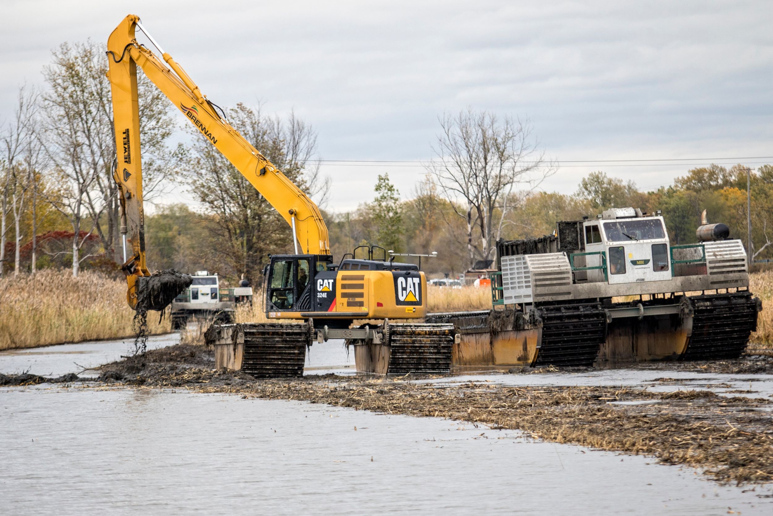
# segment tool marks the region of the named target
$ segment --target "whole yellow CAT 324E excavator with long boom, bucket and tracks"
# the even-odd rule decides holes
[[[161,58],[138,43],[140,29]],[[419,320],[427,312],[427,281],[417,265],[397,263],[378,246],[355,249],[339,263],[330,254],[328,229],[316,204],[226,121],[185,70],[156,43],[136,15],[107,39],[117,165],[121,194],[122,270],[133,309],[163,309],[189,282],[151,275],[145,262],[137,67],[188,121],[271,203],[291,227],[294,255],[272,255],[265,272],[270,320],[210,328],[209,339],[243,344],[237,367],[258,377],[303,373],[314,340],[343,338],[355,345],[358,369],[376,373],[448,372],[454,326],[390,323]],[[127,242],[131,245],[127,256]],[[357,252],[365,258],[356,258]],[[148,279],[155,279],[148,295]],[[148,298],[151,299],[148,302]],[[298,323],[301,320],[302,323]],[[352,327],[356,320],[369,324]],[[373,320],[376,320],[373,323]],[[359,364],[363,364],[361,367]]]

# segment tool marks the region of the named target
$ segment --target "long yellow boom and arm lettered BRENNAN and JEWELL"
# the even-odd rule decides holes
[[[139,28],[161,53],[162,60],[138,43]],[[199,87],[169,53],[141,25],[136,15],[128,15],[107,39],[108,78],[113,98],[117,166],[114,179],[121,194],[121,234],[124,238],[124,265],[127,300],[136,308],[137,280],[149,276],[145,263],[145,219],[142,209],[142,164],[140,155],[137,67],[162,91],[188,121],[209,140],[236,169],[271,203],[291,225],[296,254],[329,255],[328,229],[317,205],[290,181],[260,151],[254,148],[218,113]],[[131,244],[127,255],[127,241]]]

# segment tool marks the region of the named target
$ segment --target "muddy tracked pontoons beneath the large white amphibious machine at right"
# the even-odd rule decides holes
[[[737,358],[756,330],[751,292],[670,296],[611,304],[598,299],[512,310],[431,314],[460,334],[451,371],[512,367],[616,367],[644,361]]]

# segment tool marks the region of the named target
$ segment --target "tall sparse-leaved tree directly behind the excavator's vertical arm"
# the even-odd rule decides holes
[[[55,175],[65,181],[54,206],[80,234],[83,217],[90,219],[87,234],[95,231],[105,253],[119,256],[119,203],[113,179],[116,156],[107,58],[101,44],[87,41],[70,46],[63,43],[53,51],[52,63],[43,69],[49,86],[43,94],[46,113],[47,157]],[[141,149],[143,152],[143,194],[152,201],[154,193],[169,186],[185,155],[182,145],[168,149],[174,132],[172,104],[138,70]],[[77,242],[80,242],[77,243]],[[77,275],[77,246],[83,237],[73,238],[73,274]],[[80,248],[80,247],[78,247]]]

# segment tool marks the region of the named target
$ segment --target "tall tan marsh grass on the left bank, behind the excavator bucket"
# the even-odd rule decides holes
[[[126,304],[126,282],[99,272],[45,269],[36,275],[0,278],[0,350],[135,334],[135,312]],[[150,333],[170,331],[148,314]]]

